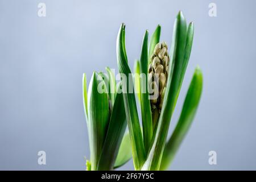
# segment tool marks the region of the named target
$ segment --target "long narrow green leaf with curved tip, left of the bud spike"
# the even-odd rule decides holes
[[[122,73],[126,77],[122,79],[123,102],[125,104],[126,120],[131,139],[134,168],[135,170],[139,170],[141,169],[144,163],[146,154],[143,144],[142,133],[139,125],[139,117],[135,101],[135,94],[134,92],[128,92],[128,80],[133,81],[133,76],[131,75],[129,65],[127,63],[128,61],[125,50],[125,24],[123,23],[121,24],[117,36],[117,61],[119,73]]]

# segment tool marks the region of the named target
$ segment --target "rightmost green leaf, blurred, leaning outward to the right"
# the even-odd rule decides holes
[[[187,134],[189,127],[195,117],[197,107],[201,97],[203,89],[203,75],[199,67],[195,69],[191,84],[189,86],[187,96],[183,104],[183,109],[180,114],[179,121],[175,127],[174,133],[168,140],[164,147],[163,158],[161,163],[161,170],[167,169],[169,164],[174,159],[174,156],[179,149],[181,142]]]

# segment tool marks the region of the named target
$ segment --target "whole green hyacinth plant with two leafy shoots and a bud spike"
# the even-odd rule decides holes
[[[86,163],[88,170],[112,170],[131,157],[135,170],[168,168],[195,117],[203,88],[203,75],[196,67],[179,121],[167,139],[191,54],[193,29],[193,23],[187,27],[180,11],[174,24],[170,53],[167,43],[160,42],[159,25],[151,36],[149,46],[146,31],[141,57],[135,61],[135,74],[132,75],[125,48],[125,24],[121,24],[117,37],[117,63],[119,73],[125,79],[122,78],[117,84],[109,68],[106,68],[107,74],[94,72],[87,96],[85,74],[83,78],[90,146],[90,160]],[[103,92],[98,92],[99,87]],[[141,109],[142,125],[135,93]],[[125,134],[126,126],[129,132]]]

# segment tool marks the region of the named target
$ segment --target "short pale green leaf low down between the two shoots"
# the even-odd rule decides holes
[[[131,158],[131,140],[129,132],[127,132],[122,139],[121,146],[118,151],[117,159],[115,160],[114,168],[118,168],[127,163]]]

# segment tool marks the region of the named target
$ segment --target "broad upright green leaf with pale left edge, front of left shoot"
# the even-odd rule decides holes
[[[103,78],[93,72],[88,89],[88,131],[90,162],[96,170],[109,124],[109,101]]]

